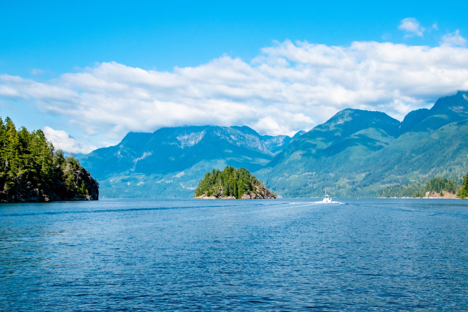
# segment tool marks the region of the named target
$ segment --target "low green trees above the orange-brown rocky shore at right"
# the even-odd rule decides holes
[[[468,183],[468,181],[467,181]],[[456,181],[435,177],[426,184],[413,183],[410,185],[392,185],[380,189],[377,193],[378,197],[424,197],[426,192],[439,193],[440,196],[444,196],[442,191],[455,194],[459,186]]]

